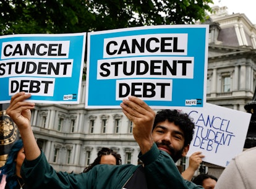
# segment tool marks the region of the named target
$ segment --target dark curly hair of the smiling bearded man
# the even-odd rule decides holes
[[[190,145],[194,135],[195,124],[192,122],[189,115],[184,112],[177,111],[176,109],[163,109],[158,111],[155,117],[153,130],[158,123],[164,122],[165,120],[168,120],[168,122],[171,123],[173,122],[175,125],[181,128],[182,132],[184,133],[184,146]]]

